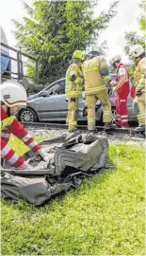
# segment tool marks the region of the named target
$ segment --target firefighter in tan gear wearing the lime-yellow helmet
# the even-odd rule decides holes
[[[68,131],[73,132],[77,126],[78,99],[82,97],[84,78],[82,64],[85,55],[79,50],[73,52],[72,64],[66,72],[65,94],[68,101]]]

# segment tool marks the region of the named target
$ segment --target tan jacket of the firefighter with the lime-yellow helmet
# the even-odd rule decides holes
[[[71,81],[71,76],[73,75],[76,77],[74,82]],[[83,74],[80,67],[77,64],[71,64],[66,72],[66,98],[80,98],[82,96],[83,83]]]

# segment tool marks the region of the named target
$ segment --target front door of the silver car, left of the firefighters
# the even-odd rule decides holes
[[[54,84],[41,101],[41,120],[65,120],[68,102],[65,98],[65,80]]]

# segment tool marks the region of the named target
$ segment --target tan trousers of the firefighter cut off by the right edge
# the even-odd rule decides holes
[[[146,92],[140,96],[136,96],[134,100],[134,111],[138,118],[139,125],[145,125],[146,105],[145,105]]]

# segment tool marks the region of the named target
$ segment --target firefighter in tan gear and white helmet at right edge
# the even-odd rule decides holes
[[[135,45],[131,48],[130,54],[135,61],[136,69],[134,73],[134,86],[136,86],[136,98],[134,100],[134,110],[138,118],[137,132],[145,131],[145,116],[146,116],[146,57],[145,50],[140,45]]]

